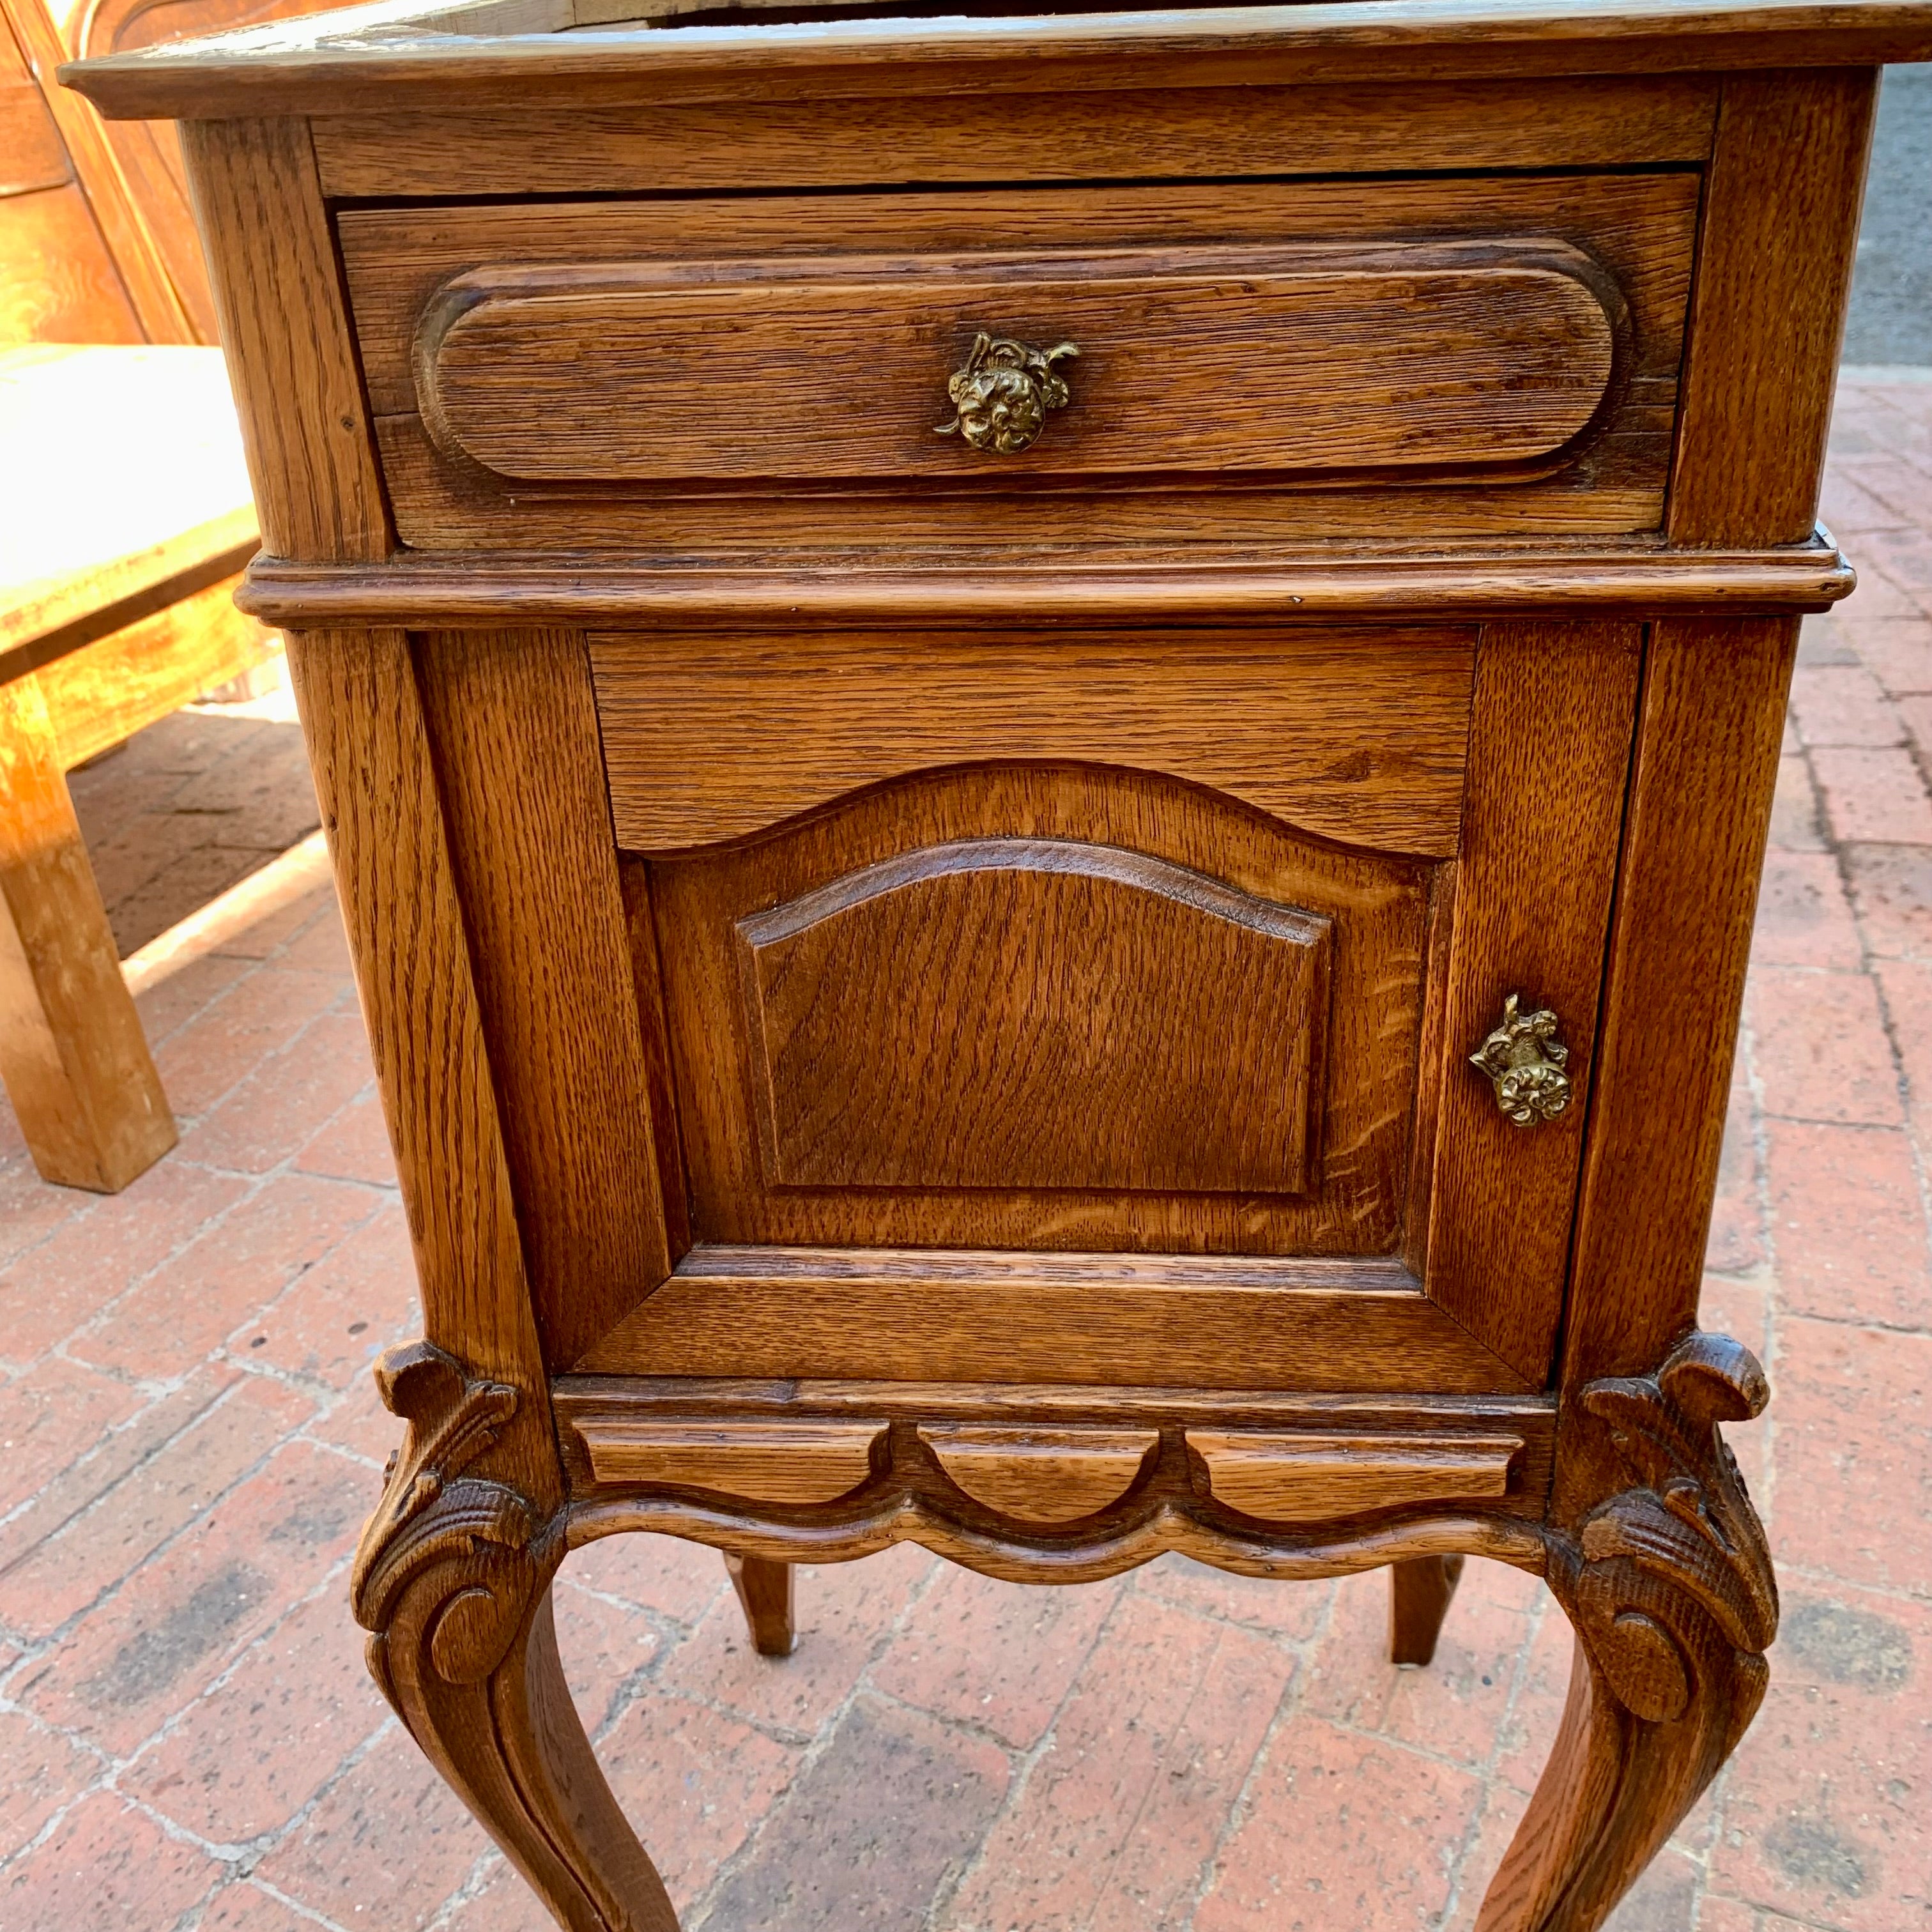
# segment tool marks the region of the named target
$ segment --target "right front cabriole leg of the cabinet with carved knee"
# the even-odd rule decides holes
[[[1764,1397],[1764,1370],[1721,1335],[1582,1391],[1605,1466],[1634,1484],[1551,1540],[1577,1629],[1569,1702],[1478,1932],[1596,1932],[1756,1716],[1777,1590],[1718,1424]]]

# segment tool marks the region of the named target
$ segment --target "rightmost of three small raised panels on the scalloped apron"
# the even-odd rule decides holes
[[[1310,1435],[1188,1430],[1215,1501],[1267,1522],[1509,1493],[1519,1435]]]

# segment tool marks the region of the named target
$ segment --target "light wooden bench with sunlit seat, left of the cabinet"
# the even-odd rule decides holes
[[[116,1192],[174,1146],[66,773],[274,651],[218,350],[0,350],[0,1078],[37,1169]]]

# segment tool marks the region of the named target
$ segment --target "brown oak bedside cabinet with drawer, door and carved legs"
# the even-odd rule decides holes
[[[570,1548],[781,1654],[902,1538],[1391,1565],[1401,1662],[1493,1557],[1577,1669],[1482,1926],[1588,1932],[1766,1683],[1696,1296],[1932,0],[599,8],[70,73],[184,122],[415,1235],[371,1667],[668,1932]]]

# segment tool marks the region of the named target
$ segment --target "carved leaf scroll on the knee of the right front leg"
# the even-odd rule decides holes
[[[1756,1356],[1725,1335],[1685,1339],[1654,1376],[1607,1378],[1580,1405],[1609,1432],[1629,1488],[1598,1503],[1553,1555],[1573,1619],[1617,1700],[1671,1723],[1698,1694],[1712,1638],[1731,1673],[1762,1679],[1777,1584],[1721,1422],[1766,1403]],[[1723,1667],[1723,1665],[1719,1665]],[[1756,1698],[1750,1698],[1754,1704]]]

